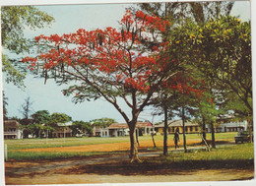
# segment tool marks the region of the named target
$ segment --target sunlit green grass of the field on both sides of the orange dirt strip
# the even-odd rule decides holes
[[[234,141],[234,136],[236,133],[217,133],[216,134],[216,140],[217,141],[224,141],[224,142],[233,142]],[[161,144],[163,139],[163,136],[157,135],[155,136],[155,141],[159,142]],[[172,142],[173,135],[168,135],[168,142]],[[187,141],[195,141],[195,142],[200,142],[200,136],[198,134],[187,134],[186,135]],[[211,134],[207,134],[207,139],[211,140]],[[183,141],[183,136],[182,134],[180,135],[180,141]],[[151,144],[151,148],[146,148],[151,151],[161,151],[162,147],[158,146],[158,149],[153,149],[152,147],[152,137],[151,136],[142,136],[139,137],[139,142],[140,143],[147,143]],[[9,159],[56,159],[56,158],[68,158],[68,157],[79,157],[79,156],[90,156],[90,155],[104,155],[104,154],[118,154],[118,153],[125,153],[126,151],[98,151],[97,146],[95,147],[94,151],[92,152],[63,152],[63,151],[50,151],[50,152],[38,152],[38,151],[30,151],[26,152],[23,150],[30,150],[30,149],[49,149],[49,148],[61,148],[61,147],[85,147],[85,146],[92,146],[92,145],[111,145],[115,144],[115,146],[119,146],[117,144],[120,143],[129,143],[129,137],[118,137],[118,138],[96,138],[96,137],[84,137],[84,138],[58,138],[58,139],[24,139],[24,140],[5,140],[5,144],[8,145],[8,158]],[[195,144],[193,144],[195,145]],[[173,145],[172,145],[173,146]],[[182,146],[182,145],[181,145]],[[191,143],[188,143],[188,147],[191,146]],[[101,148],[102,148],[101,147]],[[109,147],[109,146],[108,146]],[[127,146],[128,147],[128,146]],[[245,146],[247,147],[247,146]],[[129,148],[129,147],[128,147]],[[173,148],[173,147],[172,147]],[[182,147],[181,147],[182,148]],[[248,146],[247,150],[253,150],[253,146]],[[247,151],[246,150],[246,151]],[[240,150],[232,151],[235,152],[232,155],[240,155]],[[225,153],[224,153],[225,154]],[[219,158],[218,156],[226,156],[222,154],[222,152],[218,151],[211,152],[211,154],[206,153],[206,152],[200,152],[200,154],[196,153],[195,155],[193,154],[181,154],[178,155],[179,158],[182,157],[182,159],[189,158],[191,159],[193,156],[197,156],[198,158],[201,158],[200,156],[203,155],[204,158]],[[200,156],[199,156],[200,155]],[[249,155],[250,157],[253,154],[246,154]],[[202,158],[203,158],[202,157]],[[227,156],[226,156],[227,157]],[[229,158],[230,156],[228,156]],[[241,156],[239,157],[241,158]],[[175,158],[174,158],[175,159]]]

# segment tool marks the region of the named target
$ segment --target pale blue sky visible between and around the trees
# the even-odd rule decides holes
[[[50,28],[31,31],[26,29],[26,37],[34,37],[39,34],[49,35],[52,33],[69,33],[78,29],[95,30],[106,27],[118,27],[118,21],[125,13],[125,8],[131,4],[104,4],[104,5],[56,5],[36,6],[38,9],[53,16],[55,22]],[[243,21],[250,20],[250,9],[248,2],[235,2],[231,15],[239,16]],[[11,54],[12,55],[12,54]],[[21,57],[21,56],[18,56]],[[4,77],[3,77],[4,79]],[[3,85],[3,90],[8,97],[8,116],[22,117],[21,105],[30,96],[33,112],[37,110],[48,110],[50,113],[66,113],[73,120],[90,121],[96,118],[109,117],[117,122],[124,122],[124,119],[115,108],[103,99],[91,102],[74,104],[71,97],[66,97],[61,90],[65,87],[58,87],[54,81],[48,80],[44,85],[43,79],[35,79],[28,75],[25,80],[26,89],[21,90],[12,84]],[[128,107],[121,102],[121,107],[128,110]],[[140,115],[139,120],[150,120],[159,122],[163,116],[156,116],[153,120],[152,109],[146,108]],[[129,115],[129,114],[128,114]]]

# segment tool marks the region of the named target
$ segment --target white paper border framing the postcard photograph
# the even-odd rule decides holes
[[[191,2],[191,1],[196,1],[196,0],[166,0],[168,2]],[[165,2],[166,2],[165,1]],[[197,0],[197,1],[209,1],[209,0]],[[215,1],[222,1],[222,0],[215,0]],[[227,0],[227,1],[235,1],[235,0]],[[237,0],[237,1],[247,1],[247,0]],[[0,6],[12,6],[12,5],[68,5],[68,4],[106,4],[106,3],[140,3],[140,2],[164,2],[164,0],[1,0],[0,2]],[[253,18],[256,18],[256,13],[253,10],[255,10],[256,8],[256,3],[255,0],[254,1],[250,1],[251,3],[251,26],[252,26],[252,67],[253,67],[253,71],[255,72],[255,47],[254,47],[254,43],[256,41],[256,36],[255,31],[256,31],[256,26],[255,26],[255,20]],[[1,40],[1,37],[0,37]],[[1,57],[0,57],[1,59]],[[2,61],[2,60],[1,60]],[[2,65],[0,63],[0,69],[1,69]],[[253,80],[255,78],[255,75],[253,73],[252,75]],[[4,185],[4,159],[2,158],[2,152],[4,150],[4,147],[2,146],[3,143],[3,119],[2,119],[2,73],[0,72],[0,185]],[[255,95],[255,81],[253,81],[253,97]],[[256,105],[255,100],[253,99],[253,103],[254,105]],[[254,116],[255,116],[255,112],[254,112]],[[255,126],[255,125],[254,125]],[[254,139],[255,139],[255,135],[254,135]],[[255,147],[254,147],[254,157],[255,157]],[[256,163],[255,163],[255,158],[254,158],[254,167],[256,167]],[[254,176],[256,177],[256,173],[254,170]],[[68,176],[67,176],[68,178]],[[219,185],[230,185],[232,184],[232,186],[238,186],[238,185],[246,185],[246,186],[252,186],[255,185],[256,181],[255,179],[252,181],[225,181],[225,182],[169,182],[169,183],[131,183],[131,184],[84,184],[84,185],[190,185],[190,186],[201,186],[201,185],[207,185],[207,186],[219,186]],[[76,184],[75,184],[76,185]],[[81,185],[81,184],[80,184]],[[68,185],[67,185],[68,186]]]

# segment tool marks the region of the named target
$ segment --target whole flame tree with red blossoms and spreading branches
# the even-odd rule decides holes
[[[42,72],[45,81],[54,78],[69,84],[65,95],[74,102],[103,97],[127,122],[130,130],[130,158],[137,161],[135,127],[138,116],[162,86],[179,75],[181,62],[168,50],[169,39],[161,39],[169,27],[167,21],[138,11],[127,11],[119,22],[120,30],[86,31],[35,37],[36,57],[25,57],[32,71]],[[45,49],[49,47],[48,49]],[[130,113],[120,107],[123,99]]]

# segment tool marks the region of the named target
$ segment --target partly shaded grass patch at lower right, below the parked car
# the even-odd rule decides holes
[[[161,155],[160,158],[149,158],[143,163],[155,164],[160,167],[173,167],[186,171],[193,169],[254,169],[253,144],[239,144],[225,148],[206,151],[191,151],[188,153],[172,152]]]

